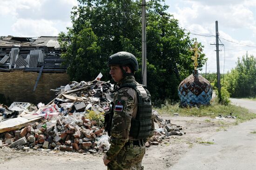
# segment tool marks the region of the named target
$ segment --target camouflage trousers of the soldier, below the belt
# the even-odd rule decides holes
[[[144,170],[141,162],[145,150],[145,144],[124,146],[115,159],[108,163],[108,170]]]

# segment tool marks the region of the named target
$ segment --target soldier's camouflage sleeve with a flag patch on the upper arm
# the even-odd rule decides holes
[[[114,116],[110,138],[111,145],[106,153],[107,159],[110,161],[116,157],[129,139],[134,99],[128,94],[127,90],[119,90],[114,99]]]

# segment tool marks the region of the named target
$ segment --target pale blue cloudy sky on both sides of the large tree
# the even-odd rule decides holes
[[[256,57],[256,0],[166,0],[166,4],[170,6],[168,13],[190,33],[215,35],[218,20],[219,36],[225,46],[225,52],[220,46],[221,73],[234,68],[237,58],[246,52]],[[71,26],[70,12],[75,5],[76,0],[0,0],[0,35],[57,36]],[[205,46],[207,72],[216,72],[216,46],[210,45],[216,43],[215,37],[190,37]]]

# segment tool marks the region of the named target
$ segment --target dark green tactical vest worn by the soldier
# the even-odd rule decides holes
[[[136,85],[135,82],[125,83],[118,90],[123,87],[133,88],[137,92],[138,98],[138,110],[136,118],[131,120],[129,136],[135,139],[147,138],[152,131],[151,96],[144,85]]]

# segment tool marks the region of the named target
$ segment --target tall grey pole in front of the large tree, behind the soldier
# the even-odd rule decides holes
[[[147,52],[146,52],[146,0],[142,0],[142,20],[141,20],[141,29],[142,29],[142,85],[147,86]]]

